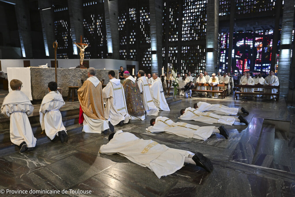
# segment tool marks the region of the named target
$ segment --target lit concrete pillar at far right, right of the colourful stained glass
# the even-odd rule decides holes
[[[280,55],[277,74],[280,83],[280,95],[283,96],[288,96],[289,91],[293,22],[294,1],[284,1]]]

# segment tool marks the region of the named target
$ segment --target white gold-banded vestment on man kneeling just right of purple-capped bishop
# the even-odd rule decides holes
[[[141,97],[142,97],[142,103],[143,106],[147,112],[147,115],[158,115],[159,110],[156,107],[154,101],[153,101],[153,96],[152,92],[150,91],[150,87],[148,85],[148,82],[144,80],[145,76],[142,76],[138,79],[138,87],[141,92]]]

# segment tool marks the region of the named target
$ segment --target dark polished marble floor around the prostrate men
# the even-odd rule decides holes
[[[194,97],[172,104],[171,111],[161,111],[179,121],[179,111],[198,101],[246,108],[249,125],[235,123],[225,126],[229,139],[212,135],[208,140],[183,138],[168,133],[147,133],[150,118],[132,121],[115,130],[134,133],[176,149],[201,152],[214,164],[211,173],[188,164],[158,179],[118,154],[99,154],[107,135],[78,133],[67,143],[50,142],[31,152],[0,157],[1,196],[19,196],[6,191],[67,191],[66,196],[295,196],[295,110],[279,103],[262,100],[209,99]],[[244,115],[243,115],[244,116]],[[263,123],[264,118],[290,120],[287,137],[279,128]],[[199,126],[208,124],[184,121]],[[214,126],[219,126],[213,124]],[[73,194],[70,192],[91,194]],[[22,194],[22,196],[54,196],[53,194]]]

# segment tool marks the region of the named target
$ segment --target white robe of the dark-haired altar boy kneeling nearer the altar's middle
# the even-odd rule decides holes
[[[65,131],[59,109],[65,104],[63,96],[58,91],[51,91],[42,100],[39,114],[42,130],[52,140],[58,131]]]

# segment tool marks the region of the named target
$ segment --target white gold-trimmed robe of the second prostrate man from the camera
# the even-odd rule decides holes
[[[215,126],[202,126],[191,125],[183,122],[173,122],[167,117],[158,116],[156,118],[154,126],[149,126],[146,130],[150,133],[170,133],[177,136],[185,138],[195,138],[206,140],[208,139],[213,130],[216,129]]]

